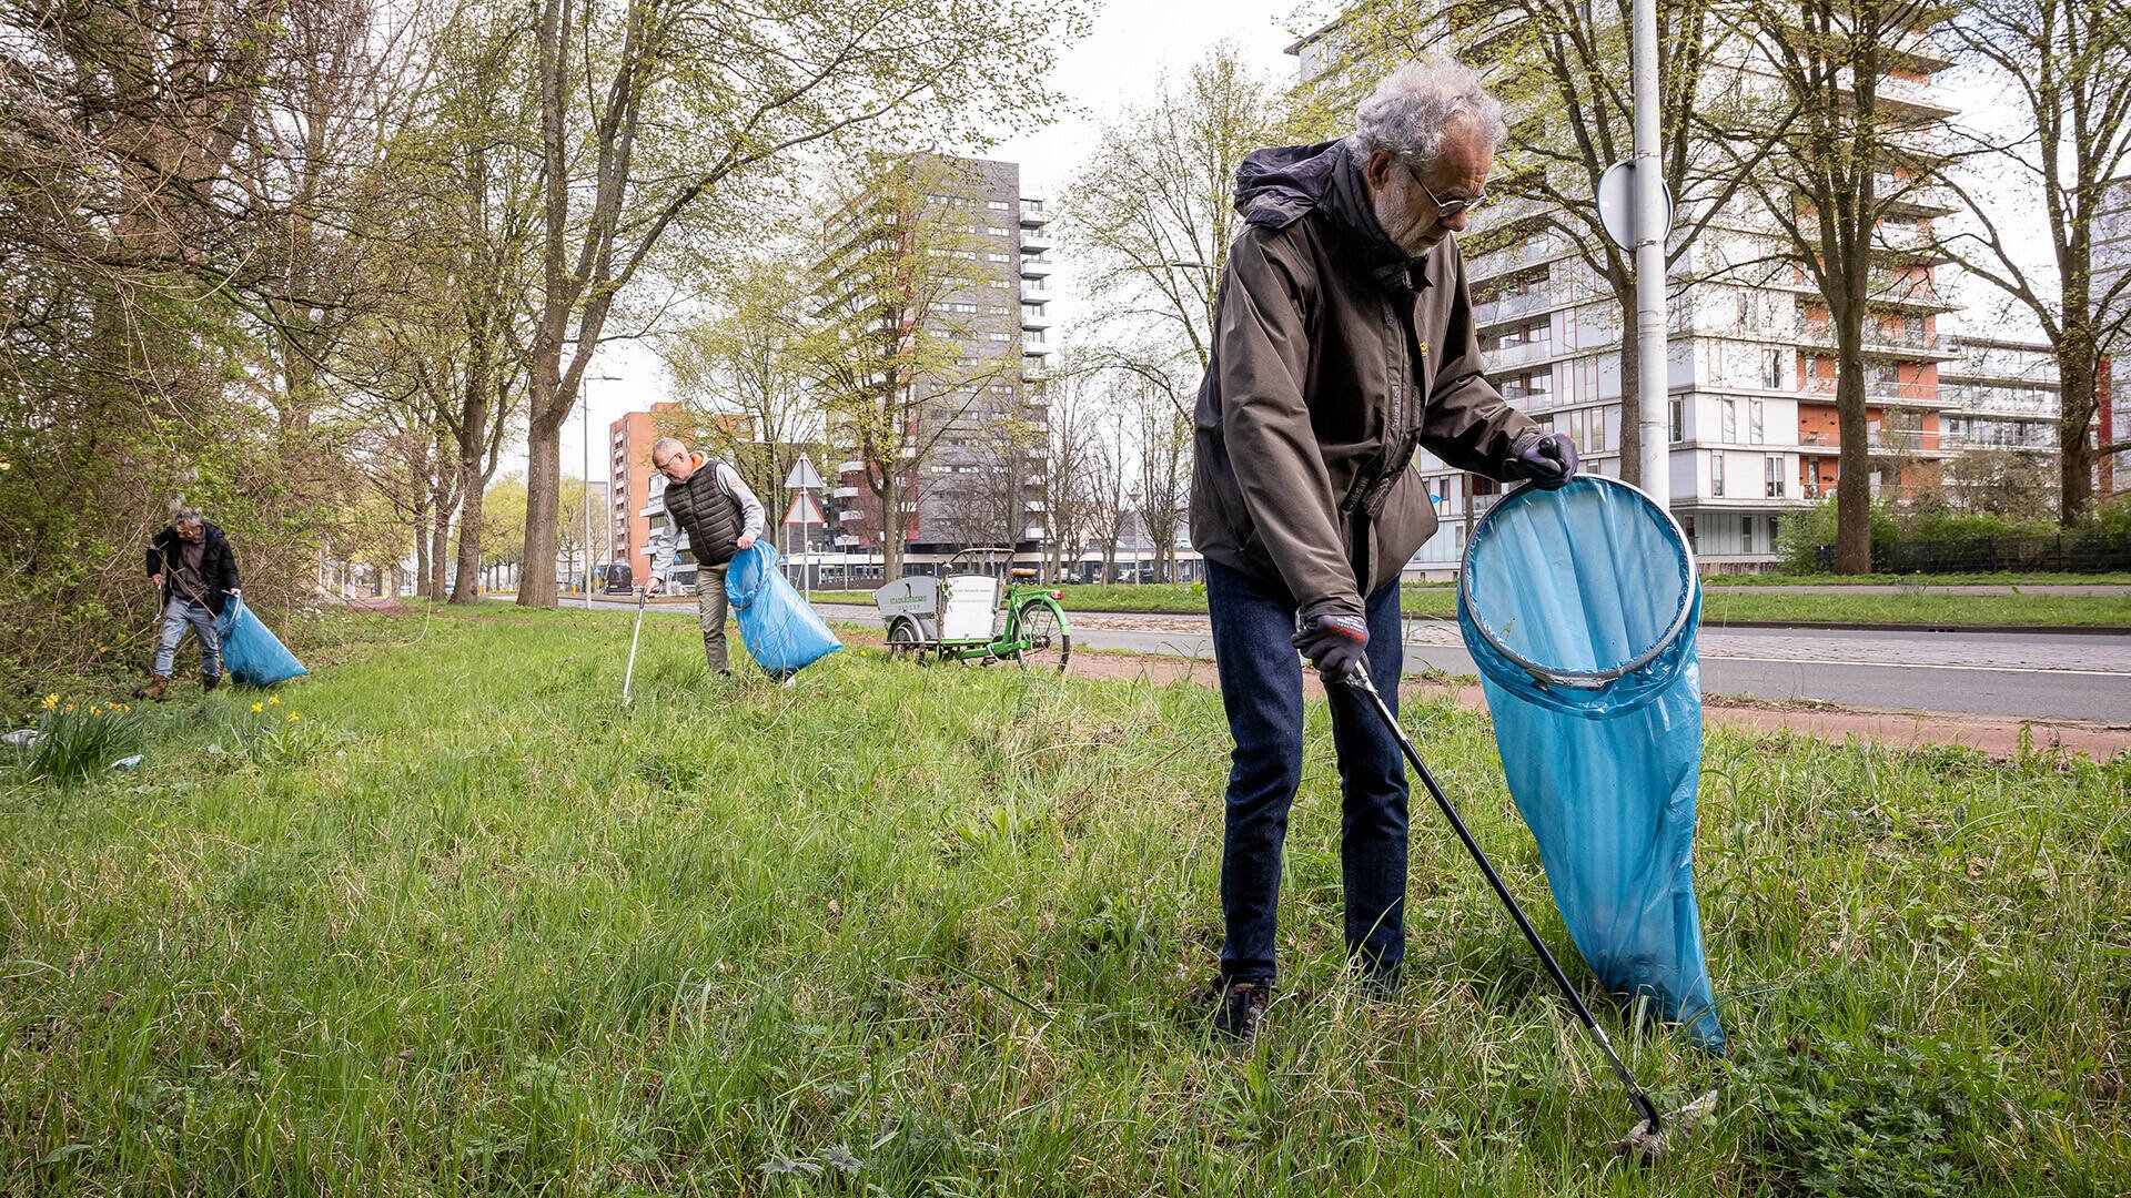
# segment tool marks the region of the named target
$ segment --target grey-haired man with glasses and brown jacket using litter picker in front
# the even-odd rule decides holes
[[[1191,475],[1236,742],[1215,1030],[1238,1040],[1257,1034],[1274,981],[1281,844],[1302,780],[1298,650],[1332,703],[1347,951],[1377,989],[1404,959],[1406,772],[1336,682],[1366,663],[1396,710],[1398,576],[1436,529],[1415,450],[1500,480],[1575,475],[1575,446],[1483,375],[1451,239],[1487,188],[1500,113],[1473,70],[1409,64],[1362,102],[1351,136],[1262,149],[1238,171],[1245,230],[1221,277]]]

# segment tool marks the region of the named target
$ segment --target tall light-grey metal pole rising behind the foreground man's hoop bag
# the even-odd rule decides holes
[[[1658,158],[1658,0],[1634,0],[1634,343],[1641,356],[1643,490],[1673,503],[1666,439],[1671,358],[1664,347],[1664,179]]]

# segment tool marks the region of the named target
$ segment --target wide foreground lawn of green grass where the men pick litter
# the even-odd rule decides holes
[[[1426,806],[1409,985],[1340,978],[1321,706],[1232,1055],[1210,689],[859,650],[720,686],[648,625],[624,712],[624,614],[477,616],[328,620],[279,703],[151,710],[136,772],[0,772],[0,1192],[2131,1189],[2131,759],[1711,735],[1733,1055],[1600,1004],[1662,1100],[1722,1087],[1634,1170]],[[1409,727],[1564,944],[1485,721]]]

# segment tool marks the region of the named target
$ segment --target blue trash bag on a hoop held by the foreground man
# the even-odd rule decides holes
[[[1694,906],[1703,595],[1671,514],[1583,475],[1473,529],[1458,627],[1568,936],[1613,993],[1724,1047]]]

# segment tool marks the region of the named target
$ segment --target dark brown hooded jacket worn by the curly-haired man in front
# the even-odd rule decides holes
[[[1541,437],[1481,373],[1458,243],[1406,258],[1345,143],[1259,149],[1198,392],[1191,546],[1360,616],[1436,531],[1406,469],[1426,446],[1507,477]]]

